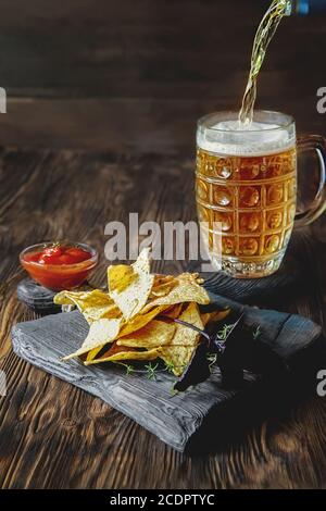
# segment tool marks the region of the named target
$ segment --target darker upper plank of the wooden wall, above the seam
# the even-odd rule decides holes
[[[1,85],[17,97],[240,100],[265,9],[256,0],[2,0]],[[324,34],[322,15],[284,21],[260,99],[271,88],[279,101],[323,85]]]

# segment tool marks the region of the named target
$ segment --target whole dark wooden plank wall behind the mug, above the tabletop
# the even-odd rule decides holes
[[[193,149],[197,119],[238,108],[268,0],[0,2],[2,144]],[[259,105],[321,132],[325,16],[290,17],[273,41]]]

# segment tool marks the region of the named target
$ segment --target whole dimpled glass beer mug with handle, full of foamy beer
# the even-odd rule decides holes
[[[300,214],[298,150],[316,151],[321,164],[315,199]],[[325,162],[325,139],[298,140],[289,115],[256,111],[246,129],[236,112],[202,117],[197,130],[196,200],[213,266],[238,278],[276,272],[293,226],[312,223],[326,209]]]

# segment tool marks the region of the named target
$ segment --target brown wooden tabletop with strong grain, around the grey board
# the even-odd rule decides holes
[[[15,297],[20,250],[40,239],[83,238],[101,253],[92,283],[104,283],[103,229],[110,220],[196,217],[192,160],[8,149],[0,155],[1,344],[8,396],[0,408],[2,487],[247,488],[321,487],[326,484],[326,404],[313,389],[268,421],[256,421],[237,443],[215,454],[188,458],[131,420],[71,385],[20,360],[10,331],[35,314]],[[143,187],[147,183],[147,187]],[[72,200],[72,198],[74,200]],[[325,221],[293,237],[305,269],[304,286],[268,306],[325,325]],[[180,262],[154,271],[179,272]],[[325,333],[325,331],[324,331]],[[321,359],[317,369],[324,369]],[[303,363],[303,371],[305,365]],[[266,396],[268,402],[268,398]],[[243,413],[243,420],[250,413]]]

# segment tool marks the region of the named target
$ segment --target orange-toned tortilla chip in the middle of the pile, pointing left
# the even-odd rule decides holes
[[[117,339],[116,344],[117,346],[131,348],[158,348],[167,345],[172,340],[175,329],[176,325],[174,323],[153,320],[139,331],[134,332],[134,334]]]

